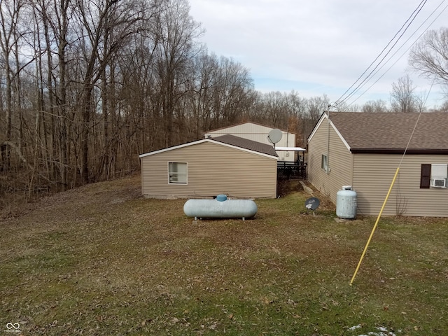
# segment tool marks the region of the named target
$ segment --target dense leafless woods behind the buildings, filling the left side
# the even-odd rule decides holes
[[[200,43],[186,0],[0,5],[3,192],[110,179],[139,169],[139,153],[242,120],[306,134],[328,104],[255,91],[248,69]]]

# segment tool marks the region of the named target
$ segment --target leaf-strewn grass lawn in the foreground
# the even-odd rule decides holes
[[[307,197],[193,223],[135,175],[10,211],[0,335],[448,335],[448,218],[382,218],[349,286],[376,218]]]

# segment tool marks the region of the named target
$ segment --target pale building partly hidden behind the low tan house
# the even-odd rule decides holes
[[[205,132],[204,137],[221,137],[225,134],[235,135],[236,137],[257,141],[262,144],[271,145],[268,136],[269,132],[274,130],[272,127],[260,125],[258,123],[245,122],[229,127],[218,128],[216,130],[209,130]],[[282,137],[279,142],[275,144],[276,148],[282,148],[281,151],[276,151],[279,155],[280,161],[294,162],[297,160],[298,153],[301,153],[300,148],[295,147],[295,134],[286,130],[281,130]],[[289,149],[289,150],[288,150]],[[302,150],[304,151],[304,149]]]

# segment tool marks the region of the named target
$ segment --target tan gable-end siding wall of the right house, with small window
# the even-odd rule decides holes
[[[327,174],[321,168],[322,155],[327,155],[328,131],[327,119],[324,119],[308,144],[308,181],[321,193],[336,202],[336,193],[342,186],[351,186],[353,182],[353,155],[346,148],[335,130],[330,127],[330,152]]]

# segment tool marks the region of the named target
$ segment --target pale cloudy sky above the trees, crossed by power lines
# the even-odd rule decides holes
[[[295,90],[302,97],[327,94],[335,102],[386,47],[421,0],[189,2],[190,15],[206,29],[201,41],[209,52],[232,57],[249,69],[255,90]],[[398,50],[395,56],[347,102],[388,102],[392,83],[407,73],[412,43],[426,29],[447,27],[447,6],[446,0],[428,0],[384,62]],[[430,92],[428,106],[442,104],[440,87],[430,90],[429,80],[416,73],[409,76],[416,94],[426,97]]]

